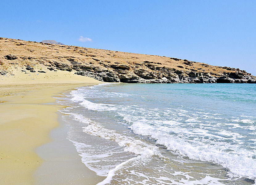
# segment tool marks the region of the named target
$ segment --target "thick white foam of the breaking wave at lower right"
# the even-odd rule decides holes
[[[255,154],[253,151],[245,149],[235,151],[236,148],[234,148],[234,151],[226,152],[229,144],[225,142],[214,141],[212,144],[209,143],[210,145],[197,141],[197,139],[188,140],[188,142],[179,136],[167,134],[163,127],[154,128],[144,122],[135,122],[130,128],[136,134],[157,139],[156,143],[166,146],[168,150],[188,156],[190,159],[220,164],[230,170],[230,176],[256,178],[256,160],[252,158]]]

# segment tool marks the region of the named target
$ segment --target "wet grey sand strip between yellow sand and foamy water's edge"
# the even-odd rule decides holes
[[[76,147],[67,139],[68,125],[62,120],[63,113],[58,112],[59,126],[50,131],[51,142],[36,148],[36,153],[44,160],[35,170],[37,185],[96,185],[106,177],[96,175],[81,161]],[[51,169],[49,171],[49,169]],[[60,178],[61,177],[61,178]]]

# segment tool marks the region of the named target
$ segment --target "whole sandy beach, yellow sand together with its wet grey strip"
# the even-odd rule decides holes
[[[14,74],[0,76],[0,184],[50,184],[51,178],[55,178],[53,184],[101,181],[102,177],[87,169],[72,143],[65,140],[65,131],[60,128],[50,136],[51,130],[64,126],[57,113],[63,107],[53,97],[101,82],[66,71],[35,73],[28,78],[14,69]],[[51,144],[44,146],[46,143]],[[67,151],[61,156],[56,155],[64,149]],[[47,163],[55,168],[48,168]],[[61,170],[56,173],[56,169]]]

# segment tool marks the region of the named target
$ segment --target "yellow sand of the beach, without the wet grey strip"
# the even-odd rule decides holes
[[[49,133],[60,126],[57,112],[63,106],[57,105],[53,96],[58,96],[60,92],[68,89],[102,83],[84,76],[70,77],[70,72],[58,74],[59,79],[36,81],[6,77],[4,83],[0,84],[1,184],[39,184],[35,171],[46,161],[39,156],[36,149],[53,141]],[[75,150],[75,147],[73,149]],[[44,152],[52,154],[52,151]],[[76,158],[78,157],[77,155]],[[80,170],[87,168],[82,162],[81,164],[83,168]],[[47,172],[54,173],[51,168],[47,169]],[[59,173],[58,178],[65,179],[65,175]],[[97,183],[93,174],[90,173],[89,177]]]

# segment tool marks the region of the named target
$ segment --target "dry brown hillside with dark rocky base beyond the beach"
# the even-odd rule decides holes
[[[256,83],[256,77],[244,70],[165,56],[6,38],[0,38],[0,46],[1,75],[10,73],[12,65],[29,71],[33,71],[33,66],[41,66],[40,72],[76,71],[77,75],[105,82]]]

